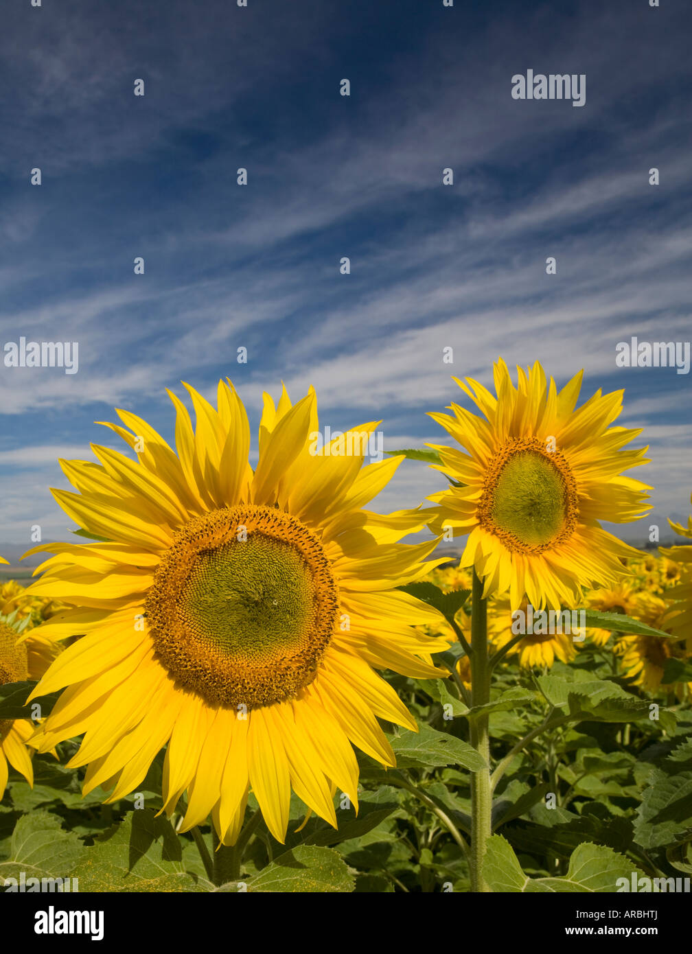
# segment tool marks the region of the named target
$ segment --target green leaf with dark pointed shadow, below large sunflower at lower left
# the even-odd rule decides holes
[[[81,891],[206,891],[212,885],[185,871],[168,819],[151,809],[130,812],[86,849],[74,871]]]

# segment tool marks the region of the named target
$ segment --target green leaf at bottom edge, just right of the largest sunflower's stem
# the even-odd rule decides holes
[[[247,880],[248,892],[348,893],[355,881],[331,848],[299,844]]]

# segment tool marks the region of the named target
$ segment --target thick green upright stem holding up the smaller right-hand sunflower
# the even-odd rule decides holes
[[[488,658],[488,604],[483,598],[483,584],[473,570],[471,614],[471,695],[473,706],[490,702],[491,668]],[[490,891],[483,876],[486,841],[492,834],[493,796],[491,792],[489,716],[479,714],[472,719],[471,744],[483,759],[484,766],[471,776],[471,887],[472,891]]]

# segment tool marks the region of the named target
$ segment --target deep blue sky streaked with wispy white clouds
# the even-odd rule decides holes
[[[651,521],[686,519],[692,375],[615,358],[692,337],[691,26],[687,0],[6,5],[0,345],[77,341],[79,370],[0,364],[0,539],[64,538],[57,458],[117,446],[113,405],[172,438],[181,379],[228,375],[255,428],[262,390],[314,384],[393,449],[499,355],[624,387]],[[585,73],[585,106],[514,100],[528,69]],[[377,508],[441,480],[407,462]]]

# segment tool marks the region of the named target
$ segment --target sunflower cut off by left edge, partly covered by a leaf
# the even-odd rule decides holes
[[[29,627],[31,623],[22,623],[16,612],[0,616],[0,686],[40,678],[57,654],[57,647],[42,634],[23,635]],[[27,742],[34,731],[35,725],[30,719],[0,718],[0,798],[8,783],[8,763],[33,785]]]

